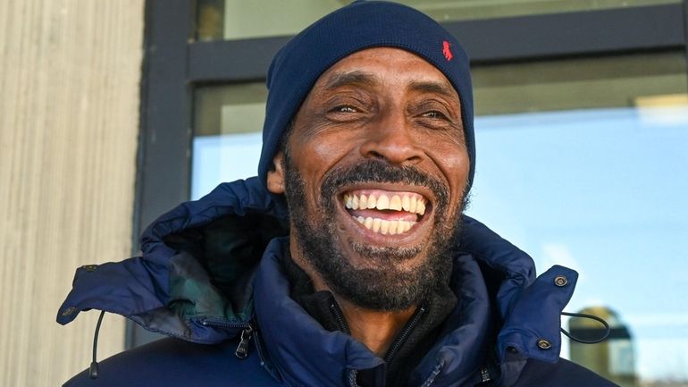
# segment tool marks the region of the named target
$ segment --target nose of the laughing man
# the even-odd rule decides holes
[[[404,114],[386,114],[371,123],[360,148],[364,157],[383,159],[397,165],[420,163],[423,150]]]

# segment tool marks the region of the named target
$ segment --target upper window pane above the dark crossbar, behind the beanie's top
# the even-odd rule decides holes
[[[199,0],[197,39],[241,39],[293,35],[351,0]],[[536,13],[566,13],[681,0],[401,0],[437,21],[487,19]]]

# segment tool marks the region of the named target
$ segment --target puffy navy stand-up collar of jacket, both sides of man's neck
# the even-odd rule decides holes
[[[289,282],[280,264],[282,243],[286,241],[273,240],[268,246],[254,283],[259,332],[282,377],[296,385],[334,386],[347,383],[355,371],[375,368],[384,374],[381,358],[345,333],[326,331],[289,298]],[[480,381],[493,340],[491,302],[472,257],[457,257],[454,267],[451,286],[457,293],[457,307],[445,324],[443,339],[416,367],[410,385],[429,380],[433,386]],[[382,383],[383,379],[377,380]]]

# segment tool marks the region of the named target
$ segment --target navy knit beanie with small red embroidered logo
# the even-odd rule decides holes
[[[456,88],[470,158],[468,188],[475,172],[473,88],[468,57],[457,40],[424,13],[406,5],[357,1],[315,21],[273,58],[267,74],[267,106],[258,176],[267,172],[280,140],[320,75],[334,63],[371,47],[397,47],[431,63]]]

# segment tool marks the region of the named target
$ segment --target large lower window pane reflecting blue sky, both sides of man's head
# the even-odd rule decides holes
[[[614,323],[572,358],[624,386],[688,383],[688,94],[684,52],[473,69],[469,215],[580,280],[569,312]],[[264,84],[199,88],[192,192],[256,174]],[[572,332],[585,321],[565,319]],[[625,334],[625,336],[624,336]],[[683,383],[683,384],[682,384]]]

